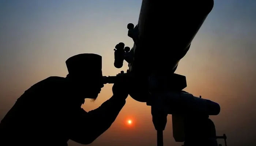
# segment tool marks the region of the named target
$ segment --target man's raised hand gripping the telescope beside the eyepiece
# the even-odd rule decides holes
[[[129,79],[123,76],[123,73],[117,74],[120,80],[116,81],[112,87],[113,96],[120,100],[125,100],[129,94]]]

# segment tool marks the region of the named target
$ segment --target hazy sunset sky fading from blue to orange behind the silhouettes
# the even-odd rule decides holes
[[[118,42],[132,47],[127,24],[138,22],[141,0],[0,0],[0,120],[22,93],[49,76],[65,76],[65,60],[80,53],[102,55],[103,75],[114,68]],[[176,73],[187,77],[185,91],[221,105],[211,116],[217,135],[230,146],[256,145],[256,1],[215,0]],[[90,111],[112,96],[105,85]],[[133,119],[127,126],[126,120]],[[154,146],[156,131],[150,107],[128,97],[112,126],[91,146]],[[173,139],[168,115],[164,144]],[[87,126],[87,125],[84,125]],[[219,141],[223,144],[223,141]],[[79,146],[69,141],[70,146]]]

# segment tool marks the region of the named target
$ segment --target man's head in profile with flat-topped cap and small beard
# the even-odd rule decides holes
[[[96,99],[103,87],[102,57],[97,54],[78,54],[67,59],[68,80],[84,98]]]

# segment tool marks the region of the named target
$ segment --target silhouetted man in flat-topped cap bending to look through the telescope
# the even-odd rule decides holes
[[[93,142],[106,131],[125,104],[124,84],[113,85],[113,96],[90,112],[85,98],[96,99],[103,87],[101,56],[78,54],[67,59],[67,77],[49,77],[29,88],[0,123],[0,145],[67,145],[69,139]],[[118,85],[117,85],[118,84]]]

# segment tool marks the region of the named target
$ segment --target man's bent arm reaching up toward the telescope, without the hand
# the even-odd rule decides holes
[[[80,108],[72,123],[70,139],[82,144],[93,142],[105,132],[116,119],[125,104],[124,98],[112,96],[100,107],[90,112]]]

